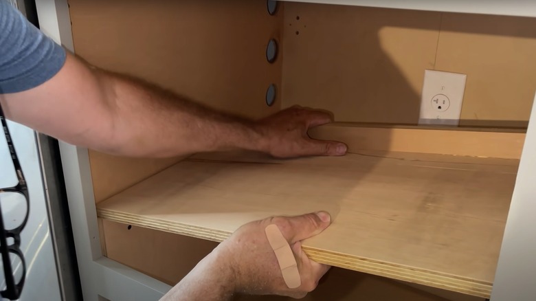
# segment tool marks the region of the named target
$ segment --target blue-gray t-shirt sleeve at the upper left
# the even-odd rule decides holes
[[[0,94],[43,84],[60,71],[66,56],[65,49],[0,0]]]

